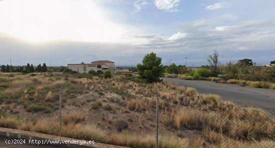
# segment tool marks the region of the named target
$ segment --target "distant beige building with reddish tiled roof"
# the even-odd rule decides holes
[[[81,62],[79,64],[68,64],[68,68],[78,73],[88,73],[90,70],[95,72],[103,72],[109,69],[111,73],[116,73],[116,68],[113,61],[109,60],[96,60],[91,63]]]

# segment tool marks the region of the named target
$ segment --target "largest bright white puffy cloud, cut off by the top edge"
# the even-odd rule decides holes
[[[176,11],[180,0],[154,0],[154,4],[158,9],[165,11]]]

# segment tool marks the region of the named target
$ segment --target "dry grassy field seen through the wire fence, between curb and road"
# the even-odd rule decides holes
[[[127,147],[275,147],[274,108],[239,106],[165,82],[75,79],[64,83],[82,93],[38,84],[20,95],[1,88],[0,127]]]

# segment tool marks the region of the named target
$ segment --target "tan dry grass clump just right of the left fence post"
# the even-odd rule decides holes
[[[62,114],[62,121],[63,124],[68,124],[68,123],[80,123],[82,122],[85,117],[81,115],[81,112],[71,112],[71,113],[63,113]]]

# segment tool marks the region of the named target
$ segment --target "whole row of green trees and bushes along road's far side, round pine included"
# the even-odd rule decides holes
[[[275,82],[275,66],[256,66],[252,59],[244,58],[236,63],[229,61],[226,64],[220,64],[219,54],[216,50],[208,56],[208,64],[199,68],[188,69],[184,65],[174,63],[163,66],[161,57],[151,52],[143,57],[142,63],[137,64],[137,72],[140,81],[155,82],[160,81],[160,76],[164,72],[187,74],[197,79],[209,76],[220,76],[224,79],[242,79],[252,81]],[[275,60],[270,61],[270,65],[275,64]]]

